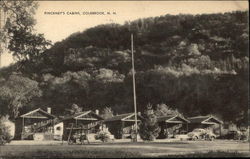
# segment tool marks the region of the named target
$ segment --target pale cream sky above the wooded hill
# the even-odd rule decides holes
[[[123,24],[125,21],[166,14],[224,13],[236,10],[248,10],[248,1],[41,1],[35,15],[35,29],[55,43],[72,33],[99,24]],[[59,12],[59,15],[53,12]],[[88,12],[104,12],[105,15],[89,15]],[[4,53],[1,62],[2,66],[7,66],[13,62],[13,58]]]

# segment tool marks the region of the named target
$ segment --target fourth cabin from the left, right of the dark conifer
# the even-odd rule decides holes
[[[158,139],[174,137],[177,134],[186,133],[190,121],[180,115],[166,115],[157,118],[161,128]]]

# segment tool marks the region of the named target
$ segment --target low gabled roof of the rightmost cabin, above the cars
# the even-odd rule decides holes
[[[195,117],[189,117],[188,120],[191,123],[201,123],[201,124],[213,124],[213,123],[218,123],[222,124],[223,122],[216,117],[212,115],[207,115],[207,116],[195,116]],[[211,122],[213,120],[213,122]]]

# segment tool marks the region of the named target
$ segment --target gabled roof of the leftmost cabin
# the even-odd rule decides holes
[[[50,118],[50,119],[54,119],[56,116],[42,110],[41,108],[32,110],[28,113],[25,113],[23,115],[21,115],[20,117],[22,118],[41,118],[41,117],[45,117],[45,118]]]

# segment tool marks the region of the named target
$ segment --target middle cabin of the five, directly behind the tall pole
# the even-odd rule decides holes
[[[137,122],[141,122],[141,115],[137,115],[137,117]],[[104,124],[116,139],[124,139],[130,137],[131,130],[134,129],[135,113],[126,113],[113,116],[106,119],[104,121]]]

